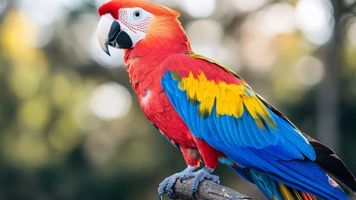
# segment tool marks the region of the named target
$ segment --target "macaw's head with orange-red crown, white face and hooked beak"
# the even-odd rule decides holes
[[[178,11],[151,1],[109,1],[98,9],[98,14],[98,41],[109,56],[108,46],[130,49],[143,43],[164,44],[176,37],[177,31],[183,31]]]

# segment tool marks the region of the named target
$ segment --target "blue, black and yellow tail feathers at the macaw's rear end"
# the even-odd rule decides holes
[[[341,186],[344,186],[349,191],[356,194],[356,179],[352,173],[347,169],[345,164],[339,159],[334,151],[320,142],[312,139],[310,136],[304,134],[305,138],[315,149],[317,158],[315,161],[295,160],[284,162],[285,166],[289,169],[297,171],[300,176],[309,177],[310,181],[300,182],[295,184],[295,181],[290,179],[283,179],[275,174],[265,174],[262,171],[256,171],[254,169],[240,168],[236,166],[230,166],[240,176],[248,181],[256,184],[258,188],[268,197],[268,199],[315,199],[313,195],[317,195],[324,199],[348,199],[346,194],[337,185],[337,181]],[[281,161],[283,162],[283,161]],[[295,179],[299,179],[299,176],[294,176]],[[314,178],[313,178],[314,177]],[[334,181],[335,180],[335,181]],[[320,182],[321,181],[321,182]],[[322,182],[328,184],[322,184]],[[319,183],[322,188],[315,187]],[[325,188],[326,186],[326,188]],[[300,191],[301,190],[301,191]],[[306,191],[310,194],[307,194]],[[331,196],[330,196],[331,195]],[[335,196],[338,196],[336,198]]]

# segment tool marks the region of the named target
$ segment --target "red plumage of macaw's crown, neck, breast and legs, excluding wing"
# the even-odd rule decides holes
[[[120,4],[118,4],[118,1],[111,1],[108,4],[104,4],[101,9],[99,9],[99,14],[111,13],[115,15],[115,11],[118,10],[118,8],[136,6],[135,4],[138,3],[140,3],[140,7],[142,8],[142,2],[145,1],[119,2]],[[138,96],[141,109],[147,119],[151,121],[152,124],[155,124],[168,140],[173,141],[173,144],[179,144],[183,157],[189,166],[199,166],[200,154],[203,154],[203,159],[204,161],[206,160],[205,164],[215,169],[215,166],[218,165],[218,157],[223,156],[223,154],[213,149],[213,147],[208,145],[205,141],[193,139],[193,135],[189,131],[188,126],[173,108],[171,101],[169,101],[168,96],[161,86],[159,69],[162,62],[167,59],[168,56],[173,54],[184,55],[190,53],[192,50],[188,36],[186,36],[185,31],[183,31],[182,26],[180,26],[180,23],[176,19],[178,12],[164,7],[162,9],[162,6],[156,8],[154,8],[154,6],[155,4],[152,3],[146,4],[146,9],[151,9],[153,13],[163,17],[171,17],[171,20],[176,20],[177,23],[170,24],[171,27],[169,28],[171,31],[169,34],[171,34],[171,36],[165,39],[163,45],[163,41],[146,36],[145,40],[138,41],[134,49],[125,49],[124,62],[127,66],[133,90]],[[148,34],[150,34],[150,32],[148,32]],[[150,42],[147,42],[148,39],[150,39]],[[183,65],[182,69],[184,69]],[[216,76],[222,75],[223,74],[216,74]],[[206,149],[206,156],[204,156],[204,152],[202,151],[199,153],[197,143],[202,149]]]

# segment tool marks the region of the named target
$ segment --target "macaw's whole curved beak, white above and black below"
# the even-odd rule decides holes
[[[128,49],[133,46],[130,36],[128,36],[126,31],[121,30],[118,21],[112,19],[111,16],[101,16],[97,34],[101,49],[109,56],[108,46],[116,49]]]

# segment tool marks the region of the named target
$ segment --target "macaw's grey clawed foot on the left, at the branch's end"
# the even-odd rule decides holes
[[[162,195],[165,193],[167,193],[171,199],[178,199],[177,196],[173,195],[174,184],[176,184],[177,179],[182,179],[185,175],[193,173],[195,169],[196,166],[188,166],[183,171],[164,179],[164,181],[162,181],[162,183],[158,186],[158,199],[162,200]]]

